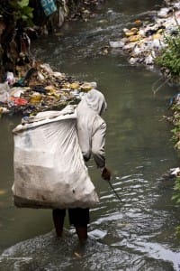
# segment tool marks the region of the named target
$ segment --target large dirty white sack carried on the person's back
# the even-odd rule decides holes
[[[86,208],[99,201],[76,134],[76,111],[47,111],[14,128],[14,204]]]

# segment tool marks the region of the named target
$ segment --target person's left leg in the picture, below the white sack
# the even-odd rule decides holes
[[[64,209],[52,210],[52,218],[53,218],[54,227],[56,229],[58,238],[62,237],[65,216],[66,216],[66,210]]]

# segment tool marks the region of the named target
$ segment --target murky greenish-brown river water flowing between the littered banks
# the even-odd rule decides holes
[[[20,117],[0,119],[0,270],[180,270],[179,210],[171,197],[173,179],[163,178],[179,165],[163,118],[175,88],[152,88],[157,71],[132,67],[120,51],[102,55],[122,28],[153,16],[162,1],[109,1],[87,23],[66,23],[57,35],[33,44],[33,53],[76,79],[96,81],[107,101],[107,165],[112,184],[89,172],[100,196],[91,210],[89,240],[78,246],[66,219],[65,238],[55,238],[50,210],[14,208],[12,129]],[[147,13],[147,11],[149,13]]]

